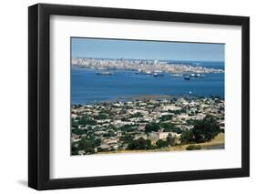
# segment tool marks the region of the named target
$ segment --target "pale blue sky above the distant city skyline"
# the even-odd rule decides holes
[[[71,38],[72,57],[224,61],[223,44]]]

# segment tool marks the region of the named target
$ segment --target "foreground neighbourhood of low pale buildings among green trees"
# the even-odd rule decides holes
[[[224,100],[154,96],[72,105],[71,123],[72,155],[201,149],[224,134]]]

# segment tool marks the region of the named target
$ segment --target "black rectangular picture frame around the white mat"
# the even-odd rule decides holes
[[[50,179],[50,15],[74,15],[132,20],[241,26],[241,168],[205,169],[118,176]],[[69,189],[179,180],[250,176],[250,18],[78,5],[37,4],[28,8],[28,186]]]

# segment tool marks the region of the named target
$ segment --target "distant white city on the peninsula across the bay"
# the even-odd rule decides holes
[[[184,73],[223,73],[222,69],[207,68],[200,66],[197,63],[189,62],[169,62],[159,60],[141,60],[141,59],[99,59],[99,58],[72,58],[72,65],[82,66],[88,68],[96,68],[99,70],[134,70],[140,73],[170,73],[170,74],[184,74]]]

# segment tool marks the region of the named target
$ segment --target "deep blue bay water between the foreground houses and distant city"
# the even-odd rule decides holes
[[[200,66],[224,69],[221,62],[200,62]],[[112,101],[138,95],[220,96],[224,97],[224,74],[205,74],[204,78],[153,77],[135,71],[113,71],[99,76],[96,69],[73,66],[71,71],[72,104]],[[189,94],[189,92],[191,94]]]

